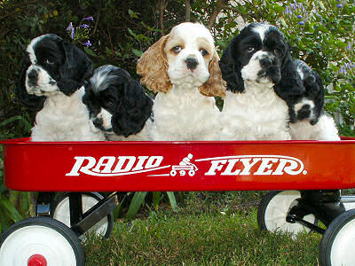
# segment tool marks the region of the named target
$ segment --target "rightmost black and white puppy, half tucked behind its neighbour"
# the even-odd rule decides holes
[[[288,93],[288,88],[295,86],[302,86],[302,90]],[[304,61],[289,62],[288,75],[282,77],[275,91],[288,104],[292,139],[340,140],[335,121],[323,111],[324,87],[319,74]]]

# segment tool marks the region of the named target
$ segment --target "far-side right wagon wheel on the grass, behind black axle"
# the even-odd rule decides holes
[[[257,209],[257,223],[261,230],[282,231],[297,234],[301,231],[311,231],[300,223],[286,222],[286,216],[296,199],[301,198],[298,191],[268,192],[261,200]],[[304,220],[317,224],[318,220],[314,215],[305,215]]]

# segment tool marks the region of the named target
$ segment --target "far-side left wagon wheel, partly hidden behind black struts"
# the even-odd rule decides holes
[[[51,204],[51,217],[65,223],[70,227],[70,211],[69,211],[69,193],[57,193],[54,197],[53,203]],[[83,213],[88,211],[91,207],[99,202],[99,200],[104,199],[104,197],[98,192],[82,192],[82,205]],[[96,223],[91,227],[87,233],[95,232],[97,235],[108,238],[112,229],[114,227],[114,214],[110,213],[105,218],[103,218],[99,223]],[[80,239],[85,239],[81,236]]]

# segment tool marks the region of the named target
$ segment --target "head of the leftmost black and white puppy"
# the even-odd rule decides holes
[[[71,95],[91,77],[92,63],[83,51],[57,35],[42,35],[28,44],[20,76],[20,97],[50,97],[61,91]]]

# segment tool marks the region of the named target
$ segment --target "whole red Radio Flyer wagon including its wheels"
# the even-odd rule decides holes
[[[272,191],[261,229],[318,231],[322,266],[355,264],[355,198],[340,193],[355,187],[355,138],[1,144],[6,187],[39,193],[36,217],[0,237],[0,265],[84,265],[79,237],[110,233],[116,192],[256,190]]]

